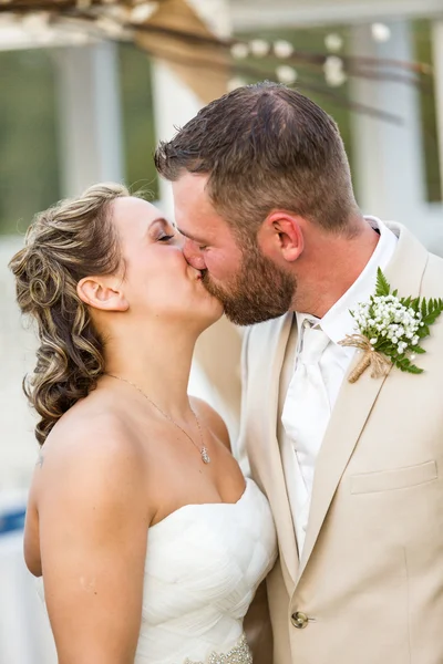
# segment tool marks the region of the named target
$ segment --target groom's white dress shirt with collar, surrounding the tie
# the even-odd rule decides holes
[[[330,340],[319,361],[320,373],[329,401],[329,404],[324,403],[327,412],[319,417],[319,414],[311,412],[308,405],[302,411],[301,422],[300,416],[297,417],[296,425],[292,417],[296,409],[293,405],[296,390],[291,381],[292,385],[289,383],[281,414],[281,457],[299,554],[301,554],[305,542],[316,460],[321,448],[324,430],[324,427],[320,425],[316,429],[316,423],[324,423],[324,418],[329,422],[330,413],[356,352],[356,349],[343,347],[338,342],[344,339],[347,334],[356,332],[350,310],[353,310],[360,302],[368,301],[370,295],[374,293],[378,268],[380,267],[382,270],[387,268],[396,246],[398,238],[382,221],[374,217],[367,217],[367,220],[372,228],[379,230],[380,239],[359,278],[321,320],[307,313],[296,312],[298,340],[295,357],[292,359],[292,373],[297,367],[297,357],[302,354],[303,331],[307,325],[319,325]],[[295,440],[297,434],[295,432],[298,432],[298,435],[303,438],[302,455],[297,453],[297,440]]]

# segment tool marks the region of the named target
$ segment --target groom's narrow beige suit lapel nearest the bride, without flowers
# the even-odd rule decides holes
[[[286,489],[285,474],[277,439],[278,400],[280,373],[285,361],[286,347],[292,324],[292,313],[282,317],[269,325],[269,335],[262,339],[261,352],[269,357],[268,371],[260,373],[262,390],[258,386],[264,401],[260,404],[261,440],[265,448],[254,453],[254,465],[268,496],[276,522],[280,561],[288,592],[291,593],[298,573],[297,542]],[[253,455],[251,455],[253,456]]]

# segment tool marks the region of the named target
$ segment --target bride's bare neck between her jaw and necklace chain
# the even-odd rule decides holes
[[[136,385],[172,417],[189,408],[187,385],[197,335],[177,325],[162,331],[125,331],[106,343],[106,373]]]

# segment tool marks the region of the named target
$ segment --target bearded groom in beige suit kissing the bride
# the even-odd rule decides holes
[[[156,165],[188,262],[253,325],[240,447],[279,538],[274,664],[441,664],[443,317],[422,374],[350,383],[362,355],[340,342],[378,268],[399,297],[441,298],[443,260],[361,215],[334,122],[281,85],[212,102]]]

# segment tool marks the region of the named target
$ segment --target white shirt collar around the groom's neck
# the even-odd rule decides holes
[[[320,324],[322,331],[333,343],[338,343],[347,334],[353,334],[354,321],[350,310],[356,309],[359,302],[364,302],[373,294],[377,284],[378,268],[385,270],[396,247],[396,236],[377,217],[364,217],[374,230],[379,230],[380,239],[377,247],[358,279],[338,300],[331,309],[318,319],[308,313],[296,312],[297,325],[301,329],[305,320],[311,324]]]

